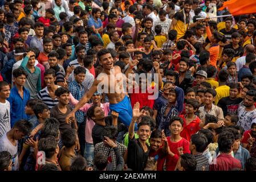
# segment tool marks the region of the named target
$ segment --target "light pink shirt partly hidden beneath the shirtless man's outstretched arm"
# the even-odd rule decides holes
[[[76,104],[78,104],[78,100],[76,100],[72,94],[70,94],[70,104],[75,106]],[[86,103],[83,107],[81,107],[79,110],[83,111],[84,113],[87,112],[87,110],[92,106],[91,104]],[[103,109],[105,116],[108,115],[110,109],[109,109],[109,102],[106,102],[105,104],[101,104],[100,103],[100,107],[101,109]],[[86,119],[86,142],[87,143],[94,143],[92,141],[92,128],[94,127],[95,122],[92,121],[92,119]]]

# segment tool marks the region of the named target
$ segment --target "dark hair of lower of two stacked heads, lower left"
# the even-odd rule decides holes
[[[38,151],[44,151],[46,158],[51,158],[55,154],[58,142],[53,136],[41,138],[38,142]]]

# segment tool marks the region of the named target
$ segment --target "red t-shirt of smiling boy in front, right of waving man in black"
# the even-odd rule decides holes
[[[189,142],[188,140],[182,138],[180,141],[173,143],[170,141],[170,137],[167,137],[167,141],[170,151],[173,152],[173,154],[175,155],[173,157],[170,155],[166,156],[166,171],[174,171],[178,162],[178,158],[180,157],[180,155],[178,154],[178,148],[183,147],[183,154],[190,154]]]

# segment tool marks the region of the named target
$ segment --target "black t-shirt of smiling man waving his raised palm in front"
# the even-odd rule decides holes
[[[128,156],[127,156],[127,166],[131,168],[132,171],[144,171],[146,167],[148,154],[149,154],[149,146],[148,151],[144,152],[143,146],[141,146],[139,139],[129,138],[128,143]]]

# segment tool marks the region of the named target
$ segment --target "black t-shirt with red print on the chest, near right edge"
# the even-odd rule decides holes
[[[235,113],[237,114],[238,105],[242,102],[242,98],[236,98],[235,100],[230,100],[229,97],[221,98],[218,102],[218,106],[221,107],[224,116],[227,113]]]

